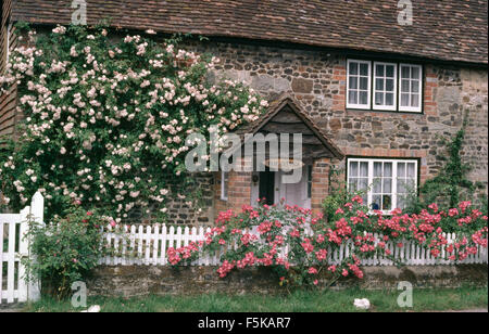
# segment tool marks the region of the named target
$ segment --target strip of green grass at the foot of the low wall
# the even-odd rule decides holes
[[[102,312],[354,312],[354,298],[368,298],[369,311],[441,311],[488,307],[487,287],[462,287],[456,290],[414,290],[413,308],[400,308],[397,291],[299,291],[289,296],[248,294],[227,296],[220,294],[198,296],[156,296],[130,299],[91,297],[88,305],[100,305]],[[70,301],[57,301],[43,297],[25,307],[30,312],[70,312]]]

